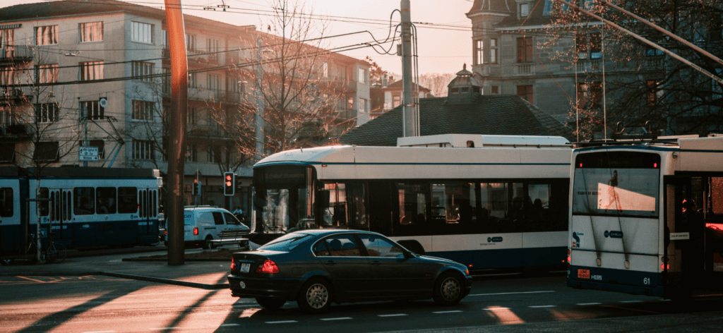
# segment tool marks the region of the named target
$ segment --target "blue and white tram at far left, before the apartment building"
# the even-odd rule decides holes
[[[52,230],[53,241],[67,248],[158,243],[158,170],[44,168],[39,180],[32,173],[0,168],[3,252],[17,253],[36,233],[38,218],[41,237]]]

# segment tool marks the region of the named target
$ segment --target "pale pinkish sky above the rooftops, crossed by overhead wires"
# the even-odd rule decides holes
[[[92,0],[91,0],[92,1]],[[296,1],[296,0],[291,0]],[[368,30],[376,40],[385,40],[389,33],[390,15],[399,9],[399,0],[301,0],[313,7],[314,14],[328,17],[325,21],[330,27],[325,35],[342,35]],[[40,0],[1,0],[0,7],[15,4],[28,4]],[[127,0],[127,2],[160,8],[163,0]],[[222,2],[230,7],[226,12],[204,10],[204,7],[217,7]],[[411,0],[411,20],[419,22],[417,27],[417,43],[419,56],[419,74],[453,74],[462,69],[463,64],[471,64],[472,31],[471,21],[466,13],[472,7],[472,0]],[[256,25],[266,27],[270,10],[266,0],[181,0],[184,14],[205,17],[232,25]],[[218,7],[217,7],[218,8]],[[392,16],[393,25],[401,20],[396,12]],[[425,23],[425,24],[422,24]],[[432,25],[429,25],[429,24]],[[446,26],[440,26],[446,25]],[[454,27],[449,27],[453,25]],[[326,48],[351,46],[372,41],[368,33],[329,38]],[[388,47],[389,44],[386,44]],[[394,47],[394,49],[396,46]],[[381,51],[380,48],[377,50]],[[401,74],[401,58],[379,54],[372,48],[360,48],[344,51],[342,54],[356,59],[369,56],[382,69],[391,73]]]

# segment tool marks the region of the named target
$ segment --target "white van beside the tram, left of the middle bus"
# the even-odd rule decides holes
[[[243,230],[251,233],[251,229],[241,223],[231,212],[218,207],[185,207],[184,208],[184,240],[186,245],[213,246],[208,241],[218,239],[223,230]]]

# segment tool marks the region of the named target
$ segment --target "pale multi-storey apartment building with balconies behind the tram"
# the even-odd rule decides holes
[[[224,121],[253,119],[253,26],[184,15],[189,64],[187,204],[226,204],[223,171],[239,176],[230,203],[247,211],[253,155]],[[0,164],[167,169],[170,60],[161,9],[114,0],[52,1],[0,9]],[[325,137],[368,117],[369,66],[330,53],[317,85],[341,94]],[[253,110],[252,110],[253,111]],[[242,116],[239,116],[242,115]],[[299,132],[300,134],[303,131]],[[252,135],[250,136],[252,137]],[[81,149],[81,147],[83,147]],[[97,160],[84,157],[95,147]],[[201,193],[192,195],[194,181]]]

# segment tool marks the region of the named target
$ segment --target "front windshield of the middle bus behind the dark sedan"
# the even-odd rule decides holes
[[[314,173],[305,166],[255,168],[256,224],[273,232],[312,228]]]

